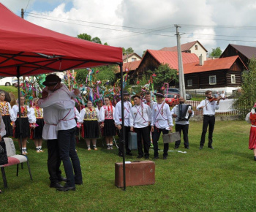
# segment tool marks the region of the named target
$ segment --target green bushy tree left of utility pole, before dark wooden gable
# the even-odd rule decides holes
[[[163,83],[178,82],[178,72],[176,69],[171,69],[168,64],[161,64],[157,69],[152,72],[148,71],[151,75],[155,74],[154,86],[161,87]]]

